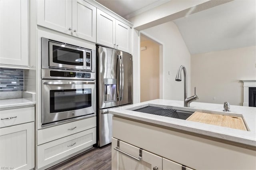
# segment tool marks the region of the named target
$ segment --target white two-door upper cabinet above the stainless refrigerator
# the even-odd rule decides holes
[[[97,43],[130,52],[130,26],[97,9]]]

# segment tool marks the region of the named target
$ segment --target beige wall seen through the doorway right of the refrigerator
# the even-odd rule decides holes
[[[159,44],[140,42],[140,102],[159,99]]]

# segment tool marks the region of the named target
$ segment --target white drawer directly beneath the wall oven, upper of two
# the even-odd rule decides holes
[[[96,116],[41,129],[37,131],[37,144],[44,144],[93,127],[96,127]]]

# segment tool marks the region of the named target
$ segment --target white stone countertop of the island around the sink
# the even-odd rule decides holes
[[[148,105],[192,112],[200,111],[221,115],[240,116],[243,117],[249,131],[132,111]],[[176,128],[199,135],[202,134],[209,137],[228,140],[230,142],[235,142],[242,145],[249,145],[253,148],[256,147],[256,107],[230,105],[230,112],[224,112],[223,105],[221,104],[192,102],[190,103],[190,107],[184,107],[183,101],[156,99],[114,108],[111,109],[109,113],[124,118],[135,119],[165,127]]]

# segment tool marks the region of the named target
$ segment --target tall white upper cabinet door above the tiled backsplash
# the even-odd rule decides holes
[[[0,0],[0,64],[28,66],[28,0]]]

